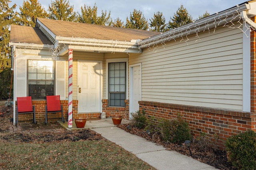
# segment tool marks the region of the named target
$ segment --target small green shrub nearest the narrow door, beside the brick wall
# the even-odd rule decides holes
[[[130,123],[131,126],[135,126],[138,129],[142,129],[146,126],[147,117],[144,110],[142,110],[142,113],[138,110],[135,113],[131,113],[131,115],[133,117]]]

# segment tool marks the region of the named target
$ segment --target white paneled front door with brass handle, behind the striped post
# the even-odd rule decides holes
[[[100,112],[100,63],[78,62],[78,113]]]

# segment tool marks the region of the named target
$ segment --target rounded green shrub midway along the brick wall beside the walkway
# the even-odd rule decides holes
[[[176,119],[164,119],[160,123],[160,133],[164,141],[181,144],[191,140],[191,133],[188,123],[178,114]]]

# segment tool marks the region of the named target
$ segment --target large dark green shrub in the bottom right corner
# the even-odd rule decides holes
[[[247,131],[234,135],[225,143],[227,157],[233,166],[241,170],[256,167],[256,133]]]

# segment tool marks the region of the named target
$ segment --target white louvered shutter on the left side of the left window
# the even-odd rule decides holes
[[[16,97],[27,96],[27,82],[26,82],[26,60],[17,59],[16,60],[16,84],[15,84],[15,94]]]

